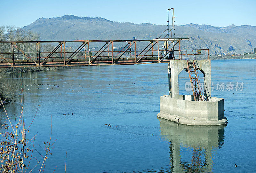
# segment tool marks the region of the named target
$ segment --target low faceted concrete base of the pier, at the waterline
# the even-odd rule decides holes
[[[227,124],[224,117],[224,99],[194,101],[192,95],[160,96],[160,113],[157,117],[185,125],[212,126]]]

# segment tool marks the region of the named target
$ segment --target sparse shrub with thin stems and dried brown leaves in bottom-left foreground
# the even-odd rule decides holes
[[[4,133],[0,133],[0,138],[2,138],[2,142],[0,143],[0,172],[3,173],[16,173],[16,172],[32,172],[32,170],[38,168],[39,172],[44,172],[45,169],[45,163],[46,159],[48,159],[51,151],[51,147],[54,144],[51,143],[52,138],[52,126],[51,126],[51,134],[50,134],[50,140],[48,142],[44,142],[44,147],[42,147],[45,151],[45,153],[42,155],[43,161],[40,163],[40,161],[37,161],[36,165],[33,165],[31,167],[30,161],[32,158],[33,150],[34,150],[34,144],[36,139],[36,134],[34,134],[34,137],[31,139],[26,138],[26,133],[29,133],[29,128],[34,121],[36,114],[34,116],[33,121],[28,126],[28,128],[25,128],[25,119],[23,114],[23,108],[24,108],[24,100],[23,100],[23,89],[20,93],[21,96],[21,113],[18,117],[18,121],[16,121],[15,118],[15,124],[13,124],[9,116],[7,114],[7,110],[4,107],[4,102],[6,100],[2,100],[3,97],[0,97],[0,106],[2,105],[6,114],[6,120],[2,127],[0,129],[5,129]],[[38,106],[37,106],[38,110]],[[36,110],[36,113],[37,113]],[[6,123],[8,122],[8,124]],[[56,140],[55,140],[56,141]]]

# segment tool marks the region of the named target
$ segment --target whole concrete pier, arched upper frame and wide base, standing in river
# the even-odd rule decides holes
[[[160,96],[157,117],[186,125],[209,126],[227,124],[224,99],[211,97],[211,60],[194,60],[204,74],[206,101],[195,101],[193,95],[179,95],[179,74],[187,69],[187,60],[171,60],[169,64],[169,95]]]

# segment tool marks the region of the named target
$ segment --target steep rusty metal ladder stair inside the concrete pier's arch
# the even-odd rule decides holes
[[[202,95],[202,91],[200,88],[200,80],[197,75],[197,69],[194,59],[188,60],[187,59],[187,67],[188,67],[188,74],[190,78],[190,82],[192,85],[192,91],[194,95],[195,101],[204,101],[204,97]]]

